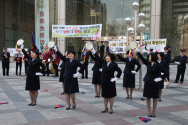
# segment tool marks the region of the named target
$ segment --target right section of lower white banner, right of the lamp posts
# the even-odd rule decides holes
[[[138,46],[140,46],[140,41],[137,41]],[[149,44],[153,52],[164,52],[164,47],[166,47],[166,39],[150,39],[145,40],[142,44]],[[147,52],[145,46],[142,47],[142,52]]]

